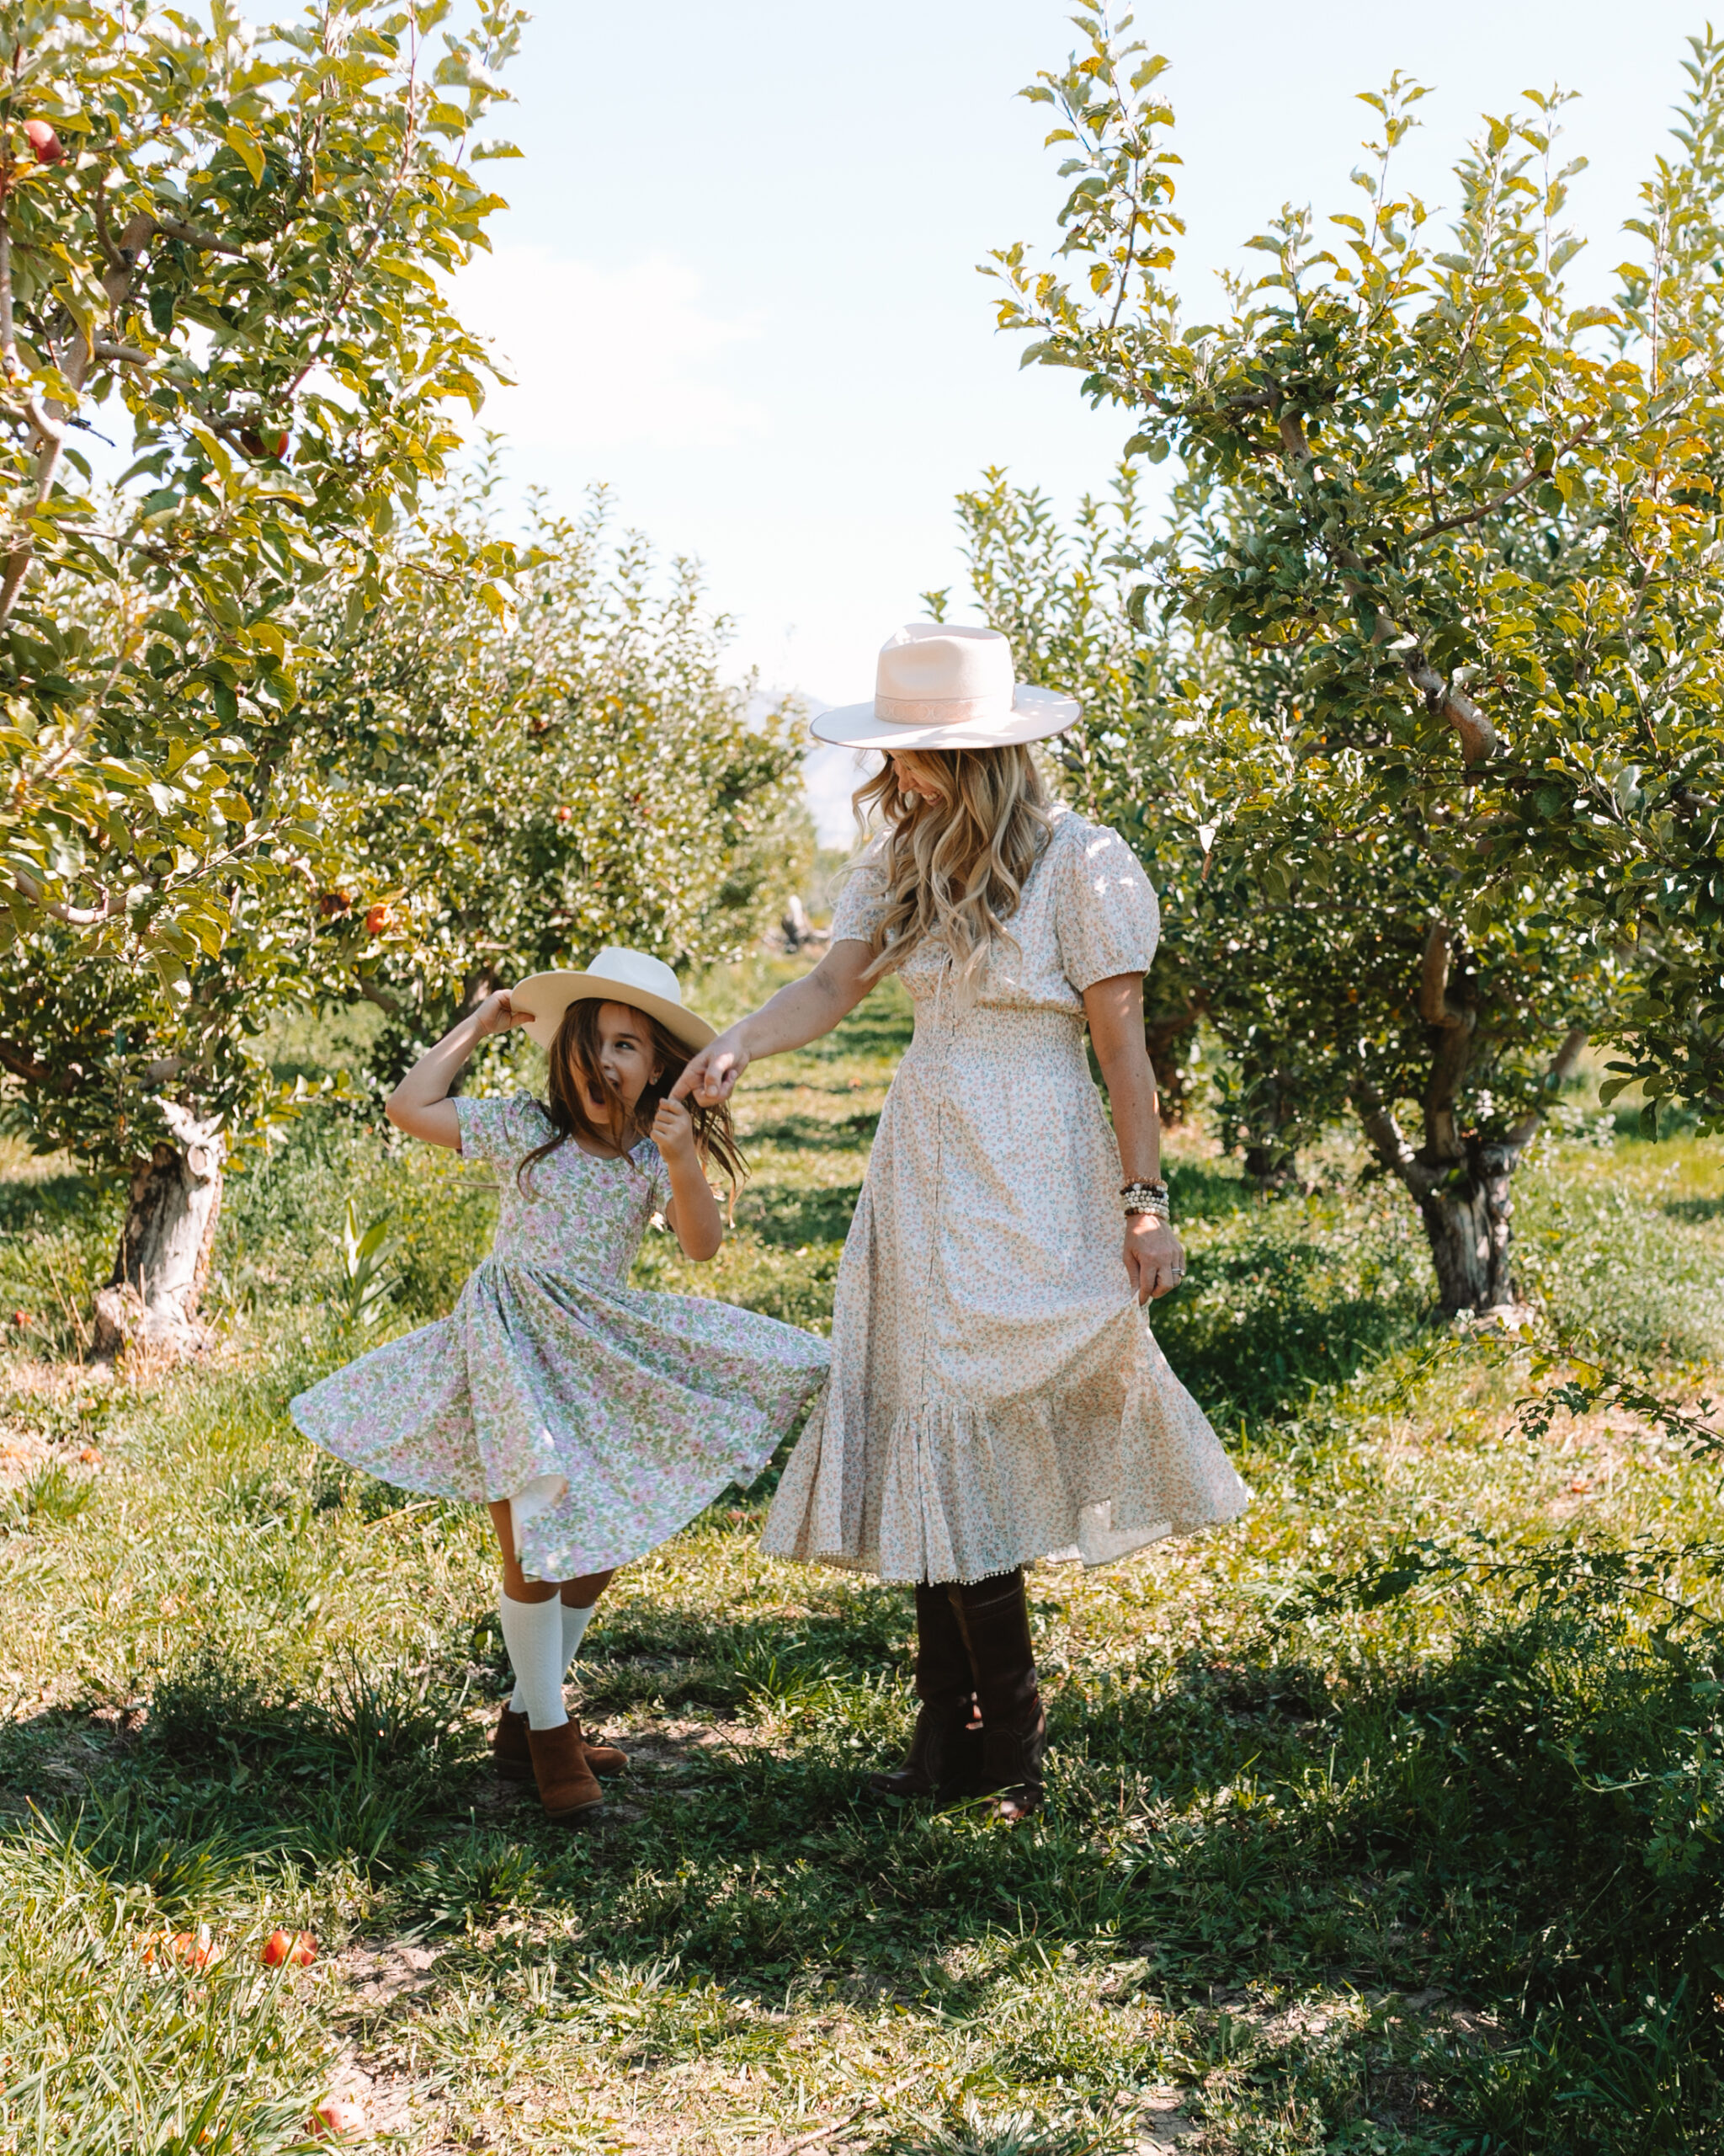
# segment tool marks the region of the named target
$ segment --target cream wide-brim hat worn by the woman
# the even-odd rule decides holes
[[[812,731],[838,748],[1015,748],[1065,733],[1080,711],[1075,696],[1015,681],[998,630],[907,621],[879,647],[873,703],[821,711]]]

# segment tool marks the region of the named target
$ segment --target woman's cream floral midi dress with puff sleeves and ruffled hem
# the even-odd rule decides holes
[[[884,910],[877,845],[832,940]],[[832,1378],[767,1518],[778,1557],[981,1580],[1248,1503],[1136,1302],[1084,1052],[1082,992],[1149,970],[1155,893],[1116,832],[1056,811],[1006,927],[970,1000],[940,940],[903,964],[916,1035],[838,1268]]]

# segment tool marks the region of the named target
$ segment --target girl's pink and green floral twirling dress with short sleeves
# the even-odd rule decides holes
[[[651,1138],[616,1160],[560,1145],[530,1097],[457,1097],[461,1153],[498,1171],[491,1255],[437,1324],[293,1401],[300,1429],[399,1490],[511,1498],[528,1578],[642,1557],[750,1483],[819,1391],[828,1345],[705,1296],[627,1285],[670,1201]]]

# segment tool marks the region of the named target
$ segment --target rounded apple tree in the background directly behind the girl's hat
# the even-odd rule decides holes
[[[539,505],[496,619],[485,494],[403,550],[405,604],[353,632],[325,610],[289,750],[345,772],[319,936],[388,1013],[386,1076],[493,987],[603,944],[735,957],[812,862],[791,711],[726,679],[696,567],[662,569],[595,489],[578,517]]]

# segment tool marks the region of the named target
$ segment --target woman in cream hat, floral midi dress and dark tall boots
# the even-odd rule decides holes
[[[1028,744],[1075,716],[1013,686],[993,630],[901,630],[873,703],[815,722],[886,750],[858,793],[884,830],[832,949],[677,1087],[728,1100],[886,972],[914,998],[838,1268],[832,1378],[763,1548],[916,1583],[916,1736],[873,1787],[987,1794],[1006,1820],[1043,1794],[1024,1565],[1103,1563],[1246,1505],[1140,1313],[1185,1272],[1142,1028],[1159,923],[1121,837],[1056,806],[1037,770]]]

